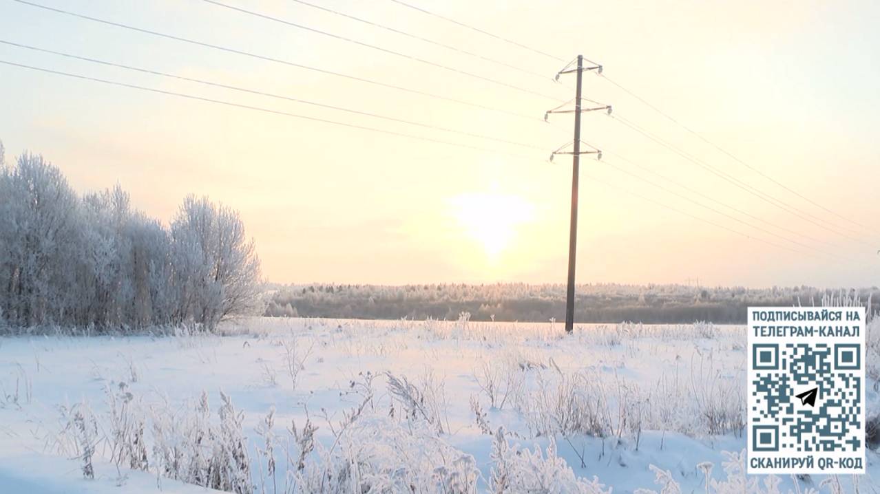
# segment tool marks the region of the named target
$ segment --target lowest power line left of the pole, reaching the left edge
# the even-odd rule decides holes
[[[206,102],[206,103],[215,103],[215,104],[218,104],[218,105],[232,106],[232,107],[236,107],[236,108],[243,108],[243,109],[246,109],[246,110],[253,110],[253,111],[257,111],[257,112],[273,113],[273,114],[276,114],[276,115],[282,115],[282,116],[292,117],[292,118],[301,119],[301,120],[310,120],[310,121],[315,121],[315,122],[321,122],[321,123],[327,123],[327,124],[338,125],[338,126],[341,126],[341,127],[349,127],[349,128],[360,129],[360,130],[368,130],[368,131],[370,131],[370,132],[377,132],[377,133],[379,133],[379,134],[397,135],[397,136],[399,136],[399,137],[407,137],[407,138],[409,138],[409,139],[417,139],[417,140],[419,140],[419,141],[435,142],[435,143],[437,143],[437,144],[444,144],[444,145],[447,145],[447,146],[455,146],[455,147],[458,147],[458,148],[475,149],[475,150],[478,150],[478,151],[484,151],[484,152],[489,152],[489,153],[495,153],[495,154],[504,155],[504,156],[511,156],[511,157],[516,157],[516,158],[519,158],[519,159],[525,159],[525,160],[530,160],[530,161],[533,161],[533,160],[535,159],[535,158],[533,158],[533,157],[529,157],[529,156],[521,156],[521,155],[510,154],[510,153],[506,153],[506,152],[503,152],[503,151],[499,151],[499,150],[497,150],[497,149],[481,148],[481,147],[479,147],[479,146],[472,146],[472,145],[470,145],[470,144],[463,144],[463,143],[460,143],[460,142],[444,141],[444,140],[442,140],[442,139],[434,139],[434,138],[432,138],[432,137],[424,137],[424,136],[422,136],[422,135],[405,134],[405,133],[402,133],[402,132],[396,132],[396,131],[393,131],[393,130],[386,130],[386,129],[377,128],[377,127],[367,127],[367,126],[363,126],[363,125],[357,125],[357,124],[351,124],[351,123],[347,123],[347,122],[341,122],[341,121],[338,121],[338,120],[328,120],[328,119],[321,119],[321,118],[318,118],[318,117],[310,117],[310,116],[307,116],[307,115],[300,115],[300,114],[298,114],[298,113],[282,112],[281,110],[273,110],[273,109],[271,109],[271,108],[263,108],[263,107],[261,107],[261,106],[243,105],[243,104],[240,104],[240,103],[234,103],[234,102],[231,102],[231,101],[224,101],[223,99],[204,98],[204,97],[202,97],[202,96],[195,96],[195,95],[192,95],[192,94],[187,94],[187,93],[182,93],[182,92],[177,92],[177,91],[165,91],[165,90],[160,90],[160,89],[156,89],[156,88],[150,88],[150,87],[146,87],[146,86],[140,86],[140,85],[136,85],[136,84],[128,84],[128,83],[121,83],[121,82],[119,82],[119,81],[111,81],[111,80],[108,80],[108,79],[101,79],[101,78],[99,78],[99,77],[83,76],[83,75],[81,75],[81,74],[73,74],[73,73],[70,73],[70,72],[64,72],[64,71],[62,71],[62,70],[45,69],[45,68],[42,68],[42,67],[34,67],[33,65],[26,65],[26,64],[23,64],[23,63],[8,62],[8,61],[5,61],[5,60],[0,60],[0,63],[4,63],[5,65],[11,65],[11,66],[13,66],[13,67],[19,67],[19,68],[23,68],[23,69],[38,70],[38,71],[40,71],[40,72],[47,72],[47,73],[49,73],[49,74],[55,74],[55,75],[59,75],[59,76],[73,77],[73,78],[77,78],[77,79],[81,79],[81,80],[85,80],[85,81],[92,81],[92,82],[102,83],[102,84],[110,84],[110,85],[114,85],[114,86],[120,86],[120,87],[129,88],[129,89],[136,89],[136,90],[140,90],[140,91],[149,91],[149,92],[154,92],[154,93],[157,93],[157,94],[165,94],[165,95],[168,95],[168,96],[176,96],[176,97],[179,97],[179,98],[194,99],[194,100],[197,100],[197,101],[204,101],[204,102]]]

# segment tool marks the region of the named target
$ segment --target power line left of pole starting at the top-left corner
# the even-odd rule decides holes
[[[456,103],[456,104],[458,104],[458,105],[471,106],[471,107],[473,107],[473,108],[479,108],[480,110],[488,110],[488,111],[491,111],[491,112],[505,113],[505,114],[508,114],[508,115],[511,115],[511,116],[515,116],[515,117],[519,117],[519,118],[522,118],[522,119],[525,119],[525,120],[532,120],[532,121],[536,121],[536,122],[541,122],[541,123],[543,123],[543,120],[539,119],[538,117],[536,117],[536,116],[534,116],[534,115],[528,115],[528,114],[524,114],[524,113],[511,112],[510,110],[507,110],[507,109],[504,109],[504,108],[498,108],[498,107],[495,107],[495,106],[488,106],[488,105],[481,105],[480,103],[473,103],[473,102],[471,102],[471,101],[466,101],[466,100],[458,99],[458,98],[450,98],[450,97],[443,96],[443,95],[439,95],[439,94],[436,94],[436,93],[432,93],[432,92],[428,92],[428,91],[421,91],[421,90],[412,89],[412,88],[407,88],[407,87],[403,87],[403,86],[399,86],[399,85],[395,85],[395,84],[383,83],[383,82],[380,82],[380,81],[375,81],[375,80],[367,79],[367,78],[360,77],[360,76],[350,76],[350,75],[348,75],[348,74],[343,74],[343,73],[341,73],[341,72],[335,72],[335,71],[333,71],[333,70],[319,69],[319,68],[317,68],[317,67],[312,67],[312,66],[309,66],[309,65],[304,65],[304,64],[302,64],[302,63],[290,62],[290,61],[288,61],[288,60],[282,60],[282,59],[273,58],[273,57],[266,56],[266,55],[261,55],[261,54],[254,54],[254,53],[251,53],[251,52],[246,52],[246,51],[238,50],[238,49],[236,49],[236,48],[222,47],[222,46],[219,46],[219,45],[214,45],[214,44],[206,43],[206,42],[203,42],[203,41],[190,40],[190,39],[183,38],[183,37],[180,37],[180,36],[175,36],[175,35],[173,35],[173,34],[159,33],[158,31],[152,31],[152,30],[150,30],[150,29],[144,29],[144,28],[141,28],[141,27],[136,27],[136,26],[134,26],[134,25],[121,24],[121,23],[119,23],[119,22],[114,22],[114,21],[110,21],[110,20],[106,20],[106,19],[102,19],[102,18],[94,18],[94,17],[91,17],[91,16],[87,16],[87,15],[84,15],[84,14],[80,14],[80,13],[77,13],[77,12],[73,12],[73,11],[64,11],[64,10],[62,10],[62,9],[57,9],[57,8],[55,8],[55,7],[49,7],[48,5],[36,4],[36,3],[33,3],[33,2],[29,2],[29,1],[27,1],[27,0],[12,0],[12,1],[13,1],[13,2],[18,2],[19,4],[26,4],[26,5],[30,5],[30,6],[32,6],[32,7],[37,7],[37,8],[40,8],[40,9],[46,10],[46,11],[53,11],[53,12],[56,12],[56,13],[60,13],[60,14],[64,14],[64,15],[68,15],[68,16],[75,17],[75,18],[81,18],[81,19],[84,19],[84,20],[89,20],[89,21],[92,21],[92,22],[97,22],[97,23],[100,23],[100,24],[113,25],[113,26],[115,26],[115,27],[121,27],[122,29],[128,29],[128,30],[130,30],[130,31],[135,31],[135,32],[137,32],[137,33],[150,34],[150,35],[152,35],[152,36],[158,36],[158,37],[160,37],[160,38],[165,38],[165,39],[168,39],[168,40],[175,40],[175,41],[180,41],[180,42],[183,42],[183,43],[189,43],[189,44],[196,45],[196,46],[199,46],[199,47],[208,47],[208,48],[212,48],[212,49],[216,49],[216,50],[224,51],[224,52],[227,52],[227,53],[240,54],[240,55],[243,55],[243,56],[248,56],[248,57],[255,58],[255,59],[258,59],[258,60],[262,60],[262,61],[265,61],[265,62],[280,63],[280,64],[283,64],[283,65],[288,65],[288,66],[290,66],[290,67],[296,67],[297,69],[312,70],[312,71],[314,71],[314,72],[319,72],[320,74],[325,74],[325,75],[327,75],[327,76],[343,77],[343,78],[350,79],[350,80],[357,81],[357,82],[364,83],[364,84],[374,84],[374,85],[377,85],[377,86],[385,87],[385,88],[388,88],[388,89],[393,89],[393,90],[396,90],[396,91],[404,91],[404,92],[408,92],[408,93],[411,93],[411,94],[418,94],[418,95],[420,95],[420,96],[424,96],[424,97],[428,97],[428,98],[435,98],[435,99],[439,99],[439,100],[443,100],[443,101],[449,101],[449,102],[451,102],[451,103]]]

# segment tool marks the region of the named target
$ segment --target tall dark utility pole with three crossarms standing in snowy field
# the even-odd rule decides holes
[[[582,154],[595,154],[598,159],[602,158],[602,151],[599,149],[593,148],[589,144],[586,144],[591,149],[588,151],[581,151],[581,113],[583,112],[592,112],[595,110],[607,110],[608,113],[611,113],[612,108],[611,105],[598,105],[596,107],[583,109],[581,107],[581,91],[582,91],[582,82],[583,82],[583,72],[584,70],[597,70],[598,74],[602,73],[602,66],[592,63],[590,61],[590,67],[583,67],[583,54],[577,55],[577,64],[574,69],[570,69],[571,64],[575,61],[568,62],[568,65],[563,67],[557,74],[556,80],[559,80],[559,76],[562,74],[570,74],[571,72],[576,72],[576,88],[575,88],[575,109],[571,110],[561,110],[560,108],[564,105],[557,106],[553,110],[548,111],[544,115],[544,120],[547,120],[550,116],[550,113],[575,113],[575,139],[572,143],[572,150],[570,152],[563,151],[568,147],[568,144],[564,144],[560,149],[556,149],[553,154],[550,155],[550,161],[553,161],[553,157],[555,155],[571,155],[571,224],[568,229],[568,290],[566,292],[565,298],[565,331],[571,332],[574,331],[575,328],[575,264],[576,264],[576,251],[577,251],[577,187],[578,187],[578,178],[580,176],[580,165],[581,165],[581,155]],[[566,104],[567,105],[567,104]]]

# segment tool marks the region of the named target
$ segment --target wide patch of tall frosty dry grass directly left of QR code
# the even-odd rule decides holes
[[[730,432],[738,436],[744,428],[739,371],[723,374],[712,366],[710,357],[691,362],[687,381],[661,375],[649,387],[616,373],[568,373],[558,367],[533,372],[536,385],[518,394],[516,406],[535,437],[628,438],[638,448],[646,430],[699,437]]]

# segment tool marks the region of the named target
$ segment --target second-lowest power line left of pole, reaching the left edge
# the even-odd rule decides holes
[[[229,90],[232,90],[232,91],[241,91],[241,92],[247,92],[247,93],[251,93],[251,94],[258,94],[258,95],[260,95],[260,96],[266,96],[266,97],[269,97],[269,98],[284,99],[284,100],[287,100],[287,101],[293,101],[293,102],[295,102],[295,103],[302,103],[302,104],[304,104],[304,105],[313,105],[313,106],[319,106],[319,107],[321,107],[321,108],[328,108],[328,109],[331,109],[331,110],[337,110],[337,111],[340,111],[340,112],[355,113],[355,114],[358,114],[358,115],[364,115],[364,116],[368,116],[368,117],[372,117],[372,118],[376,118],[376,119],[390,120],[390,121],[394,121],[394,122],[405,123],[405,124],[407,124],[407,125],[413,125],[413,126],[417,126],[417,127],[432,128],[432,129],[435,129],[435,130],[441,130],[441,131],[443,131],[443,132],[449,132],[449,133],[452,133],[452,134],[467,135],[467,136],[469,136],[469,137],[476,137],[476,138],[480,138],[480,139],[487,139],[487,140],[489,140],[489,141],[495,141],[495,142],[503,142],[503,143],[506,143],[506,144],[512,144],[512,145],[520,146],[520,147],[524,147],[524,148],[531,148],[531,149],[544,149],[544,147],[542,147],[542,146],[535,146],[535,145],[532,145],[532,144],[526,144],[526,143],[524,143],[524,142],[510,141],[510,140],[508,140],[508,139],[502,139],[502,138],[499,138],[499,137],[493,137],[493,136],[490,136],[490,135],[475,134],[475,133],[472,133],[472,132],[467,132],[467,131],[458,130],[458,129],[454,129],[454,128],[449,128],[449,127],[440,127],[440,126],[435,126],[435,125],[426,124],[426,123],[422,123],[422,122],[417,122],[417,121],[413,121],[413,120],[405,120],[405,119],[399,119],[399,118],[395,118],[395,117],[389,117],[389,116],[387,116],[387,115],[381,115],[381,114],[378,114],[378,113],[363,112],[363,111],[360,111],[360,110],[355,110],[355,109],[352,109],[352,108],[346,108],[346,107],[343,107],[343,106],[326,105],[326,104],[324,104],[324,103],[318,103],[318,102],[316,102],[316,101],[310,101],[310,100],[308,100],[308,99],[293,98],[293,97],[289,97],[289,96],[282,96],[282,95],[278,95],[278,94],[274,94],[274,93],[270,93],[270,92],[266,92],[266,91],[257,91],[257,90],[252,90],[252,89],[243,88],[243,87],[240,87],[240,86],[233,86],[233,85],[229,85],[229,84],[215,83],[215,82],[206,81],[206,80],[203,80],[203,79],[197,79],[197,78],[194,78],[194,77],[178,76],[178,75],[176,75],[176,74],[169,74],[169,73],[167,73],[167,72],[160,72],[160,71],[158,71],[158,70],[153,70],[153,69],[143,69],[143,68],[140,68],[140,67],[134,67],[134,66],[131,66],[131,65],[125,65],[125,64],[116,63],[116,62],[106,62],[106,61],[103,61],[103,60],[98,60],[98,59],[91,58],[91,57],[87,57],[87,56],[80,56],[80,55],[76,55],[76,54],[68,54],[68,53],[64,53],[64,52],[59,52],[59,51],[55,51],[55,50],[50,50],[50,49],[48,49],[48,48],[32,47],[32,46],[30,46],[30,45],[23,45],[23,44],[21,44],[21,43],[15,43],[15,42],[12,42],[12,41],[7,41],[7,40],[0,40],[0,43],[2,43],[2,44],[4,44],[4,45],[10,45],[10,46],[13,46],[13,47],[22,47],[22,48],[26,48],[26,49],[29,49],[29,50],[34,50],[34,51],[42,52],[42,53],[55,54],[55,55],[59,55],[59,56],[67,57],[67,58],[72,58],[72,59],[76,59],[76,60],[82,60],[82,61],[84,61],[84,62],[99,63],[99,64],[101,64],[101,65],[106,65],[106,66],[109,66],[109,67],[116,67],[116,68],[119,68],[119,69],[134,70],[134,71],[136,71],[136,72],[142,72],[142,73],[144,73],[144,74],[151,74],[151,75],[154,75],[154,76],[169,77],[169,78],[172,78],[172,79],[179,79],[179,80],[181,80],[181,81],[187,81],[187,82],[198,83],[198,84],[205,84],[205,85],[209,85],[209,86],[214,86],[214,87],[219,87],[219,88],[229,89]]]

